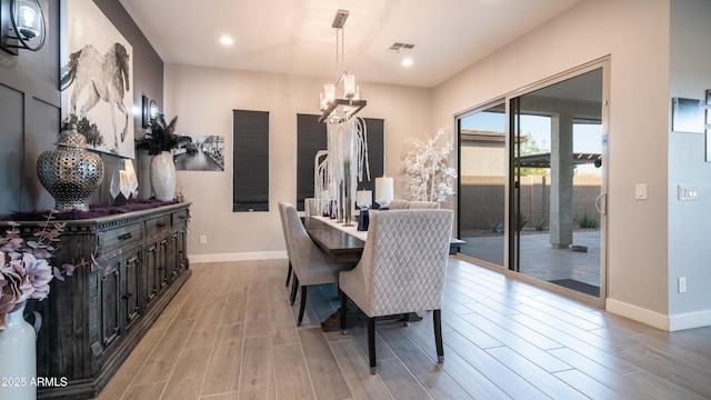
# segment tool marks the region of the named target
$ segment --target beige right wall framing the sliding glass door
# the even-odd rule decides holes
[[[588,0],[434,90],[433,123],[610,58],[608,308],[669,323],[669,0]],[[634,200],[647,183],[649,200]]]

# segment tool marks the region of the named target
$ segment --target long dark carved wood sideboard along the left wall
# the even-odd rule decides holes
[[[28,302],[26,314],[42,316],[37,376],[57,383],[38,388],[38,399],[90,399],[108,383],[191,274],[189,208],[66,221],[51,263],[94,254],[100,267],[53,280],[48,299]],[[21,229],[24,236],[37,226],[23,221]]]

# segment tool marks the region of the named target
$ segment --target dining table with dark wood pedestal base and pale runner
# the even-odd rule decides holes
[[[382,211],[381,211],[382,212]],[[387,211],[384,211],[387,212]],[[331,256],[334,262],[352,262],[353,267],[360,260],[368,239],[368,231],[358,230],[358,222],[344,223],[337,219],[321,216],[309,216],[303,218],[303,227],[311,240],[326,253]],[[455,254],[464,243],[463,240],[450,239],[450,254]],[[352,304],[354,306],[354,304]],[[340,329],[341,310],[337,310],[321,322],[323,331],[336,331]],[[410,321],[421,320],[418,313],[410,314]],[[365,322],[367,318],[356,307],[348,310],[348,320],[353,322]]]

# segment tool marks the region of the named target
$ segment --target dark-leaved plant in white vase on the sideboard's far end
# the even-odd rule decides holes
[[[177,122],[178,116],[166,123],[163,114],[158,114],[151,122],[148,133],[136,140],[138,149],[146,149],[148,154],[152,156],[151,188],[156,199],[161,201],[172,201],[176,194],[176,164],[171,150],[178,148],[184,140],[182,136],[176,134]]]

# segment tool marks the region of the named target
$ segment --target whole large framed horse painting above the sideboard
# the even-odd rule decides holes
[[[90,150],[132,159],[133,48],[92,0],[61,7],[61,130],[76,126]]]

